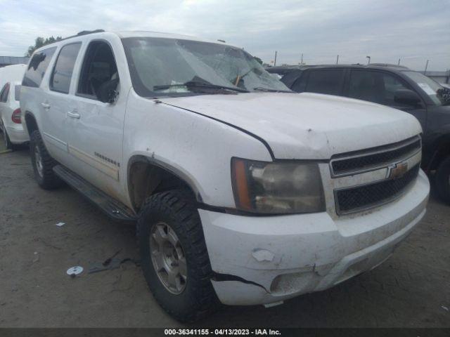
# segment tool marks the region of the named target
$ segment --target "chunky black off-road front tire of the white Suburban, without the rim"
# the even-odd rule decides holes
[[[174,230],[186,257],[186,286],[178,295],[162,284],[150,257],[150,232],[161,222]],[[139,214],[136,235],[143,275],[153,296],[169,315],[180,322],[194,322],[218,308],[219,300],[211,284],[210,258],[191,193],[171,190],[148,197]]]

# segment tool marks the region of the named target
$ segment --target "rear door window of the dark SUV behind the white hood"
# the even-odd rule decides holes
[[[305,91],[340,95],[343,74],[343,69],[310,70]]]

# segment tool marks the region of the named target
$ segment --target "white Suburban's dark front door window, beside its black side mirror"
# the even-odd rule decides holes
[[[117,87],[117,84],[119,75],[111,47],[105,41],[92,41],[84,56],[77,93],[98,99],[105,88]]]

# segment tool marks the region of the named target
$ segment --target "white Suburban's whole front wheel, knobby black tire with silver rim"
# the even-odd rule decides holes
[[[193,200],[184,190],[154,194],[144,202],[137,223],[148,287],[161,307],[181,322],[207,316],[218,303]]]

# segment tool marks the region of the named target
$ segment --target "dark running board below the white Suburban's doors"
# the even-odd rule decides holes
[[[119,221],[133,221],[137,220],[136,214],[131,209],[122,204],[120,201],[113,199],[99,190],[97,187],[88,183],[77,173],[73,173],[62,165],[53,167],[56,176],[65,181],[74,190],[77,190],[86,197],[93,204],[96,204],[107,216]]]

